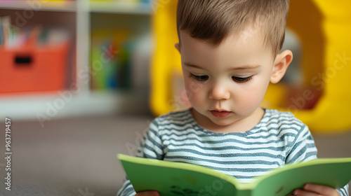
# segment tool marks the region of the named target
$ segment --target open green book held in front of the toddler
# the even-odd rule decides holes
[[[263,196],[289,195],[305,183],[343,188],[351,180],[351,158],[329,158],[288,164],[239,183],[227,174],[182,162],[117,155],[138,193],[157,190],[160,196]]]

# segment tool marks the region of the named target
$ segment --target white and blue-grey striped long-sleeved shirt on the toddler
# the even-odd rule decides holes
[[[204,130],[187,109],[156,118],[137,156],[201,165],[248,183],[270,169],[317,158],[317,148],[308,127],[292,113],[265,109],[253,129],[223,134]],[[344,189],[340,195],[347,195]],[[117,195],[135,195],[130,181]]]

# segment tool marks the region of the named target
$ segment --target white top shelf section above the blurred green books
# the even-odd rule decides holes
[[[89,1],[89,9],[92,13],[151,14],[150,3],[128,1]]]

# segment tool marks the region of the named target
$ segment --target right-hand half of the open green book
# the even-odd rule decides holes
[[[343,188],[351,180],[351,158],[312,160],[285,167],[259,178],[253,195],[285,196],[305,183]]]

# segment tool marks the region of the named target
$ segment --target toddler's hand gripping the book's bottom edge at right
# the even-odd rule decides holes
[[[303,189],[296,189],[293,195],[299,196],[340,196],[338,191],[329,186],[307,183]]]

